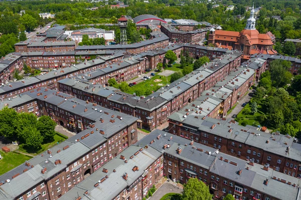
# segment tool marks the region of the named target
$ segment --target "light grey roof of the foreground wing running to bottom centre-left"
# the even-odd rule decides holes
[[[79,194],[82,199],[113,199],[116,197],[123,189],[126,189],[132,183],[136,181],[146,170],[150,164],[155,162],[161,153],[153,148],[147,148],[140,151],[137,155],[134,155],[132,159],[129,157],[135,152],[139,151],[141,147],[136,145],[131,145],[122,152],[122,155],[127,159],[127,163],[119,157],[113,158],[103,168],[108,169],[108,173],[103,172],[98,169],[89,178],[80,182],[77,186],[73,187],[70,191],[62,196],[66,200],[74,200]],[[139,170],[133,171],[132,168],[137,166]],[[116,171],[113,172],[113,169]],[[122,178],[124,173],[127,173],[127,180]],[[94,184],[98,180],[102,179],[108,175],[108,178],[104,182],[99,183],[97,187]],[[88,194],[83,195],[84,192],[88,190]]]

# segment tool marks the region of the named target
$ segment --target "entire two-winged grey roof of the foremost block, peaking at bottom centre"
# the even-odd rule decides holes
[[[250,187],[279,199],[294,200],[300,195],[298,178],[228,154],[217,153],[214,148],[191,143],[188,139],[156,129],[62,197],[66,200],[75,199],[78,195],[85,200],[97,199],[99,196],[102,196],[102,199],[112,199],[123,189],[130,189],[137,184],[148,173],[147,168],[150,164],[164,153],[232,180],[235,186]],[[185,172],[199,174],[199,171],[190,168],[185,168]]]

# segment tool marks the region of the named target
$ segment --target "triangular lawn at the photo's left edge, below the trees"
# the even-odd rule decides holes
[[[26,160],[31,159],[30,156],[23,155],[16,152],[8,152],[0,150],[2,159],[0,160],[0,175],[8,172],[9,170],[19,166],[24,163]]]

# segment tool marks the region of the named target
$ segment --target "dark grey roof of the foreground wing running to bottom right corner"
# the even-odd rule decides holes
[[[159,135],[161,136],[158,139],[157,137]],[[154,147],[162,153],[179,157],[187,162],[208,169],[217,175],[233,180],[238,184],[254,188],[279,199],[297,199],[299,195],[298,187],[300,179],[298,178],[288,176],[271,168],[264,170],[264,166],[262,165],[250,163],[249,161],[225,153],[219,152],[217,154],[217,149],[200,143],[193,143],[191,140],[170,133],[155,130],[142,138],[138,144],[140,146],[147,146],[147,149]],[[167,148],[164,149],[166,144]],[[181,149],[180,154],[179,149]],[[192,174],[199,174],[198,171],[188,168],[185,170]],[[240,171],[240,175],[238,171]],[[274,176],[276,179],[273,179]],[[287,181],[285,181],[286,183],[290,182],[291,184],[280,183],[278,178],[285,179]],[[208,177],[208,179],[210,179],[210,177]],[[265,181],[267,184],[265,184]],[[292,186],[294,183],[296,187]]]

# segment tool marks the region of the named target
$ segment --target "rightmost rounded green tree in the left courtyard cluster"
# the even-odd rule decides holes
[[[41,133],[44,141],[53,141],[56,123],[46,115],[41,116],[36,124],[36,128]]]

